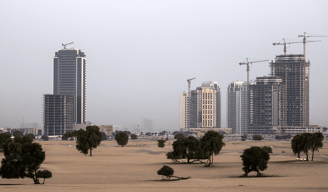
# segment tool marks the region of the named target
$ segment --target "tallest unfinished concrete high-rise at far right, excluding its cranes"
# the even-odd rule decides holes
[[[272,75],[282,80],[285,113],[281,116],[280,126],[309,126],[309,75],[310,62],[304,55],[278,55],[270,63]]]

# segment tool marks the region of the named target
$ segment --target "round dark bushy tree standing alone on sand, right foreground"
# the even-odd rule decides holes
[[[263,174],[261,174],[260,171],[264,171],[268,168],[270,155],[267,149],[251,147],[245,149],[240,157],[243,165],[242,171],[245,172],[240,177],[248,177],[248,174],[253,171],[257,172],[257,177],[261,177]]]

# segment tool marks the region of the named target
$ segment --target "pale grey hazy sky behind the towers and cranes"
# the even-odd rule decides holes
[[[179,129],[179,93],[217,81],[226,127],[226,90],[247,79],[246,58],[274,60],[282,38],[328,35],[328,1],[1,1],[0,126],[42,125],[52,94],[52,58],[61,43],[87,55],[87,121]],[[306,44],[310,124],[328,126],[328,38]],[[68,45],[67,47],[71,47]],[[303,54],[303,44],[287,47]],[[251,65],[250,79],[269,74]]]

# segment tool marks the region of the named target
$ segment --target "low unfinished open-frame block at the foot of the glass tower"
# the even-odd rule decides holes
[[[44,94],[43,96],[44,134],[64,135],[67,131],[74,131],[75,95]]]

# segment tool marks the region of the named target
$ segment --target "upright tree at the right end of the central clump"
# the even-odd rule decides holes
[[[222,139],[223,135],[213,130],[206,132],[200,139],[200,148],[202,149],[204,155],[208,157],[205,167],[214,166],[212,164],[213,155],[218,155],[222,147],[226,146],[226,143],[224,143]]]

